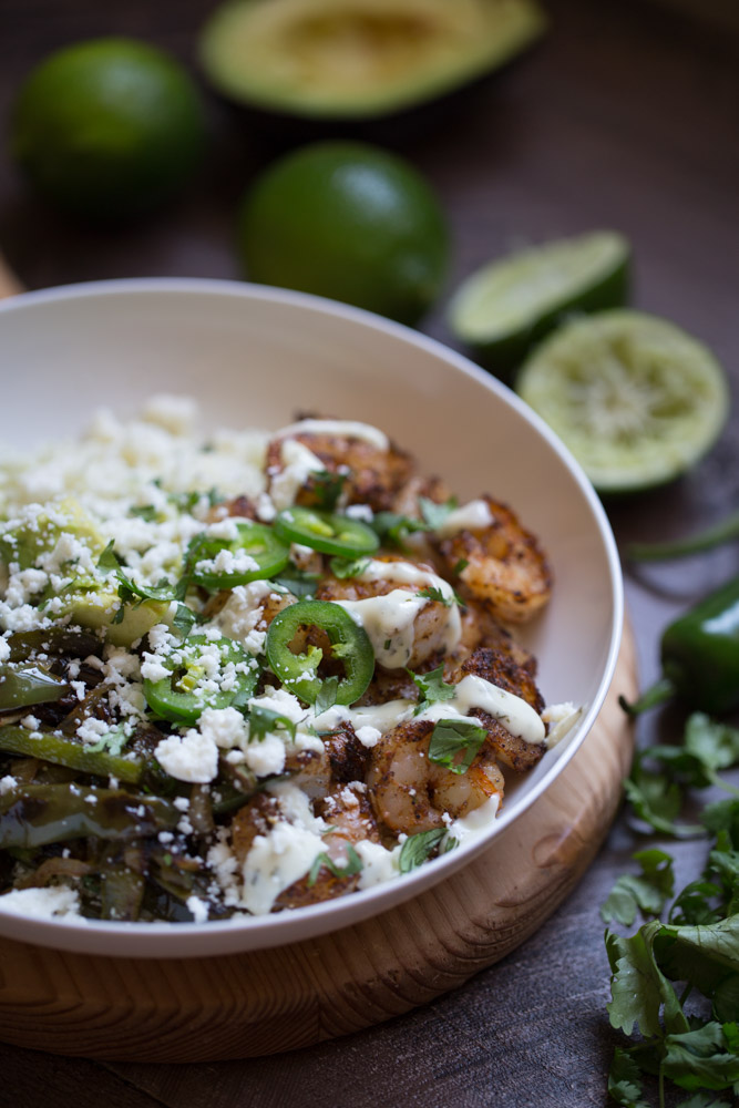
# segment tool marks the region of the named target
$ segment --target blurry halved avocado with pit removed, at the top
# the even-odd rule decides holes
[[[499,69],[545,25],[536,0],[229,0],[203,28],[199,54],[239,104],[378,119]]]

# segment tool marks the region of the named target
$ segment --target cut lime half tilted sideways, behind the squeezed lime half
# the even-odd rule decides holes
[[[460,286],[449,326],[485,366],[505,376],[567,315],[623,305],[629,259],[629,244],[612,230],[496,258]]]

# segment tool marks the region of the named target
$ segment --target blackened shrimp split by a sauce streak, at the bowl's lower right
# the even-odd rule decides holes
[[[520,665],[514,654],[505,649],[479,647],[450,674],[449,681],[458,685],[469,674],[482,677],[491,685],[521,697],[540,716],[544,710],[544,700],[536,687],[531,667]],[[512,735],[482,708],[473,708],[471,715],[476,716],[487,731],[487,743],[504,766],[515,770],[526,770],[543,758],[546,750],[543,742],[526,742],[520,736]]]

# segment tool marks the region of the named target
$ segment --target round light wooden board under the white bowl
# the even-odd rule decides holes
[[[311,1046],[447,993],[519,946],[593,861],[616,814],[637,691],[627,627],[587,739],[462,871],[333,934],[211,958],[110,958],[0,940],[0,1039],[52,1054],[215,1061]]]

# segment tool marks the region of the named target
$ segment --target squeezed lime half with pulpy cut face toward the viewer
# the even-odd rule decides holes
[[[726,375],[705,346],[628,310],[565,324],[534,350],[516,391],[603,493],[685,473],[718,439],[730,404]]]

